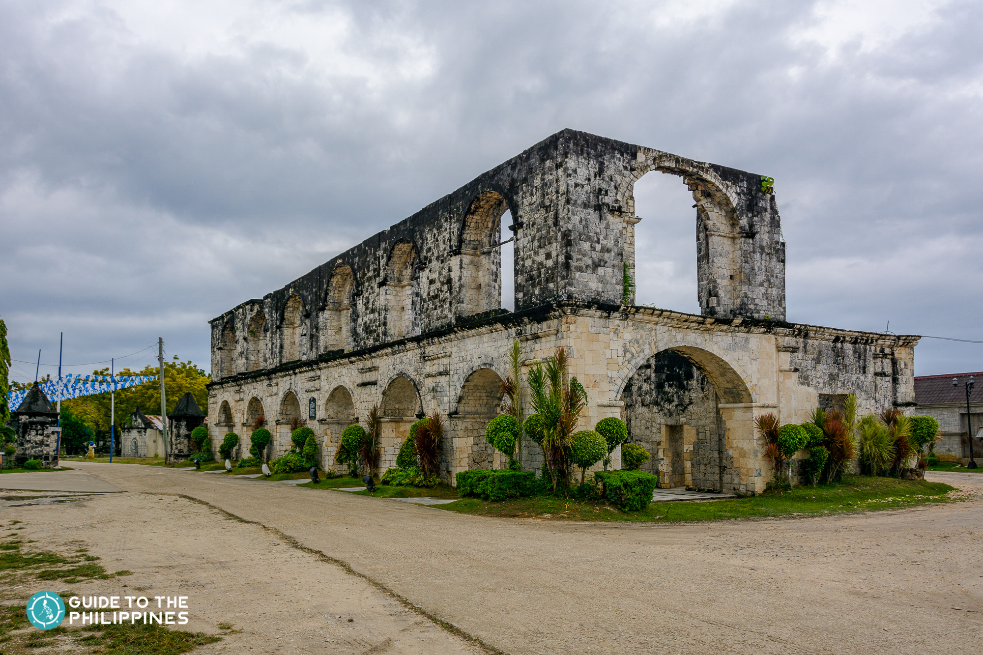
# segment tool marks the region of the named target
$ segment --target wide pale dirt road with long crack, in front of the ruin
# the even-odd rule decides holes
[[[84,463],[78,468],[128,493],[21,511],[33,509],[29,520],[35,525],[60,522],[65,539],[82,529],[78,526],[87,516],[112,515],[89,540],[92,553],[106,560],[118,557],[110,551],[132,539],[134,531],[156,526],[161,549],[171,543],[168,539],[185,546],[174,548],[168,556],[172,568],[154,586],[167,580],[192,585],[193,575],[179,574],[183,558],[192,557],[183,554],[198,553],[221,563],[223,579],[239,585],[223,593],[231,594],[229,602],[241,618],[217,620],[246,624],[243,637],[274,629],[283,634],[319,630],[322,625],[314,615],[329,614],[326,605],[324,612],[297,614],[317,602],[330,605],[334,616],[346,615],[348,610],[335,604],[337,594],[325,588],[340,583],[315,583],[319,578],[311,577],[306,586],[319,588],[302,595],[296,590],[306,588],[303,576],[285,578],[275,566],[303,556],[311,559],[305,570],[320,574],[321,569],[341,569],[286,545],[273,546],[283,540],[259,526],[237,523],[248,534],[231,534],[227,526],[232,521],[217,512],[202,515],[201,506],[157,501],[164,497],[145,493],[185,494],[276,528],[508,653],[921,655],[975,653],[981,647],[983,501],[978,498],[950,506],[822,518],[566,524],[467,516],[343,492],[157,467]],[[983,476],[936,474],[936,479],[983,491]],[[14,517],[12,511],[7,513]],[[187,520],[186,511],[191,512]],[[182,528],[180,535],[172,533],[176,527]],[[254,533],[259,536],[249,536]],[[134,570],[134,579],[147,570],[164,570],[153,560],[151,543],[158,542],[128,547],[128,558],[146,549],[144,565],[120,562]],[[197,594],[225,589],[211,578],[190,588]],[[330,601],[318,601],[318,593]],[[300,602],[288,604],[292,600]],[[282,621],[275,627],[248,624],[260,611],[277,612]],[[298,618],[288,627],[291,613]],[[376,636],[390,638],[386,629],[401,628],[379,628]],[[444,636],[455,648],[469,647]],[[263,643],[272,649],[268,652],[285,647],[270,645],[269,639]],[[322,649],[324,643],[320,639],[290,648],[334,652]],[[369,644],[376,647],[372,652],[404,652],[402,641],[380,645],[372,639],[362,651],[360,642],[338,652],[368,651]]]

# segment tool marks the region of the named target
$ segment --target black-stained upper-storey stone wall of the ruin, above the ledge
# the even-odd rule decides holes
[[[696,201],[701,312],[783,320],[784,243],[760,175],[564,130],[330,262],[211,321],[213,379],[359,351],[500,313],[500,218],[515,307],[620,304],[634,274],[634,183],[679,176]]]

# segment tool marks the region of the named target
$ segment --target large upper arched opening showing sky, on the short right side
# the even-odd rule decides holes
[[[633,196],[641,218],[634,225],[634,304],[700,314],[692,192],[679,177],[652,171],[635,183]]]

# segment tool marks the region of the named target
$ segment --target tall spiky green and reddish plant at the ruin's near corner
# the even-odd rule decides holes
[[[543,429],[543,454],[552,482],[552,493],[563,487],[564,496],[570,477],[569,448],[580,415],[587,406],[587,392],[576,378],[566,382],[566,348],[556,348],[546,366],[537,362],[527,376],[533,410],[539,414]]]

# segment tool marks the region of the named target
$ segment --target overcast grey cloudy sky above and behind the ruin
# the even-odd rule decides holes
[[[209,319],[563,128],[774,177],[789,321],[983,340],[981,34],[979,2],[3,0],[12,378],[60,331],[67,372],[157,336],[208,369]],[[635,195],[639,302],[698,311],[691,197]]]

